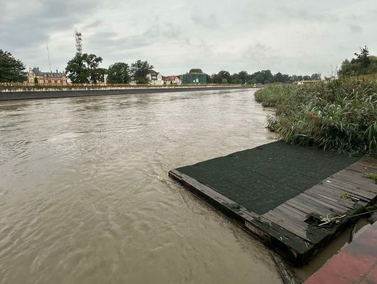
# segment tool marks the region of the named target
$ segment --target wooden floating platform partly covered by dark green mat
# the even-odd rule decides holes
[[[297,162],[300,156],[306,162]],[[253,163],[256,160],[274,174],[263,174],[263,168]],[[292,162],[302,164],[295,167]],[[374,179],[363,177],[367,172],[377,172],[376,159],[333,156],[274,142],[171,170],[169,176],[281,253],[286,260],[300,266],[343,227],[357,220],[357,216],[350,216],[374,203],[377,184]],[[222,187],[223,184],[226,186]],[[295,190],[290,190],[293,187]],[[274,196],[278,200],[274,200]],[[325,223],[324,217],[337,216],[343,216],[339,223],[332,221],[318,226]]]

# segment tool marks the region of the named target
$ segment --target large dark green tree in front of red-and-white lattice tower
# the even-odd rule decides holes
[[[68,61],[66,67],[67,77],[73,83],[96,84],[103,82],[106,69],[98,68],[102,62],[101,57],[95,54],[76,54],[73,59]]]

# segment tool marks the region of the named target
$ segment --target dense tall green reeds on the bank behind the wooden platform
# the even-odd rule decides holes
[[[267,127],[289,144],[377,155],[377,82],[270,85],[255,97],[263,106],[275,107]]]

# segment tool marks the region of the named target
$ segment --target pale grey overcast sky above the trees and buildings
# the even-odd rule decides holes
[[[147,60],[163,75],[271,69],[330,75],[360,46],[377,54],[376,0],[0,0],[0,49],[62,70],[83,52],[102,67]]]

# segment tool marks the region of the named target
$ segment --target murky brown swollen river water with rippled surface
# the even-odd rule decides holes
[[[274,139],[253,90],[0,102],[0,283],[281,283],[168,178]]]

